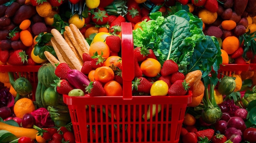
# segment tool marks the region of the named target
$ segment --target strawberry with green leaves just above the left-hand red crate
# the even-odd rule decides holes
[[[10,65],[24,65],[27,62],[27,54],[23,50],[14,50],[10,53],[7,63]]]

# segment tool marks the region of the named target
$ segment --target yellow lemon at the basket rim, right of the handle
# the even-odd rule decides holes
[[[165,96],[168,93],[168,85],[163,80],[157,80],[150,88],[151,96]]]

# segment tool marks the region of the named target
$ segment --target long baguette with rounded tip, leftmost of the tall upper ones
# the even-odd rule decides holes
[[[83,65],[80,63],[79,59],[76,57],[75,53],[67,44],[67,41],[63,38],[61,33],[55,28],[51,30],[51,33],[54,36],[57,43],[60,45],[60,49],[63,50],[63,52],[67,55],[67,59],[71,61],[75,69],[81,71]]]

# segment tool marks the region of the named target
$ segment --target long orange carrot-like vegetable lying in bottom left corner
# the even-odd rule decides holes
[[[38,132],[34,128],[22,128],[22,127],[16,127],[11,126],[8,124],[5,124],[3,122],[0,122],[0,130],[7,130],[14,134],[17,138],[20,137],[30,137],[31,139],[36,139],[36,133]]]

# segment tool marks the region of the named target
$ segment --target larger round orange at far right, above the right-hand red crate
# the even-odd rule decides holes
[[[228,36],[222,41],[222,49],[227,52],[227,54],[233,54],[239,48],[239,39],[235,36]]]

